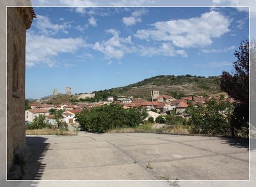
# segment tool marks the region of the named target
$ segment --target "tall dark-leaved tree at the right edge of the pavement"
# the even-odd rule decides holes
[[[232,116],[232,135],[235,130],[249,133],[249,41],[240,43],[239,50],[234,52],[237,61],[233,63],[234,72],[223,72],[221,75],[221,90],[235,100]]]

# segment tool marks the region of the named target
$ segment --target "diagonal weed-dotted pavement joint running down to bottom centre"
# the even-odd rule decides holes
[[[159,172],[155,171],[154,168],[153,169],[147,169],[146,165],[141,163],[141,162],[137,162],[137,160],[134,158],[134,156],[132,156],[131,154],[127,153],[124,149],[120,148],[119,146],[112,144],[109,141],[106,141],[107,143],[113,145],[117,150],[121,151],[126,157],[128,157],[130,160],[134,161],[134,163],[136,162],[137,165],[140,166],[140,168],[144,171],[146,171],[147,173],[151,174],[152,177],[157,180],[157,179],[161,179],[161,175]]]

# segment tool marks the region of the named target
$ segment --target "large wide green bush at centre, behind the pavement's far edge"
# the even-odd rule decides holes
[[[102,105],[76,114],[76,121],[88,132],[105,133],[110,129],[137,127],[147,117],[145,109],[124,109],[120,104]]]

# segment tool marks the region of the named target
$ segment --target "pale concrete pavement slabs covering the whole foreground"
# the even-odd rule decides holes
[[[244,139],[128,133],[27,136],[27,180],[249,180]]]

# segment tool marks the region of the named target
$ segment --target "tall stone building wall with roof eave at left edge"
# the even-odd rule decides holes
[[[32,23],[31,8],[7,8],[7,170],[14,154],[26,149],[24,125],[26,29]]]

